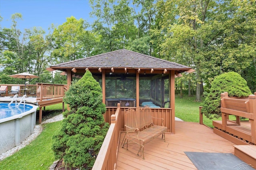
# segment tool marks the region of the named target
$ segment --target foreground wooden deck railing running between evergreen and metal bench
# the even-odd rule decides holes
[[[92,170],[113,170],[116,169],[117,154],[121,131],[120,104],[116,108],[115,114],[111,115],[111,124],[108,133],[102,143],[100,152],[96,158]]]

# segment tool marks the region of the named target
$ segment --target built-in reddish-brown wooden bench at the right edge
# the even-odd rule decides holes
[[[224,92],[221,94],[220,111],[222,130],[256,144],[256,95],[239,99],[228,97],[228,93]],[[235,115],[236,121],[229,120],[229,115]],[[250,129],[241,126],[240,117],[249,119]]]

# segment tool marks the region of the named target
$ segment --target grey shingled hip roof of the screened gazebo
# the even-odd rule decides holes
[[[109,53],[94,55],[65,63],[55,64],[50,68],[63,70],[68,68],[145,68],[145,69],[175,69],[186,71],[190,67],[182,64],[158,59],[149,55],[120,49]]]

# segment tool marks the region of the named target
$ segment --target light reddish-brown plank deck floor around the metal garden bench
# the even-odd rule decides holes
[[[166,134],[166,142],[154,139],[148,143],[144,149],[144,160],[121,147],[124,134],[121,133],[120,137],[117,170],[190,170],[196,167],[184,153],[186,151],[234,154],[234,143],[199,123],[175,121],[175,134]]]

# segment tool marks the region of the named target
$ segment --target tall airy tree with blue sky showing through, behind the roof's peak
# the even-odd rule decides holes
[[[126,0],[91,0],[90,3],[91,15],[97,18],[93,31],[101,36],[101,53],[122,49],[128,41],[136,39],[137,28]]]

